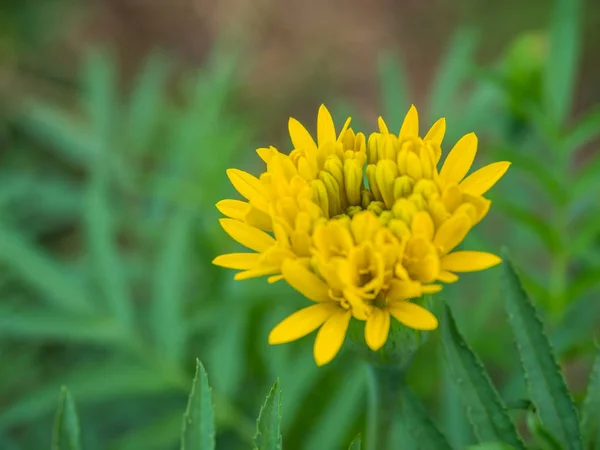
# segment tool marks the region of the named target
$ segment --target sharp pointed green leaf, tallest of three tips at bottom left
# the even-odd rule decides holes
[[[183,416],[181,450],[211,450],[215,448],[215,416],[208,376],[196,359],[196,376],[188,406]]]

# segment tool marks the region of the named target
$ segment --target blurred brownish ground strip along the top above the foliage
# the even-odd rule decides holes
[[[380,113],[377,60],[384,50],[402,55],[410,100],[420,104],[459,27],[479,32],[478,57],[494,61],[518,33],[545,26],[551,2],[70,0],[56,5],[47,19],[50,38],[20,55],[25,72],[33,67],[69,79],[84,50],[103,44],[116,50],[127,83],[150,50],[163,49],[182,68],[196,67],[220,42],[242,53],[245,97],[265,124],[281,129],[288,116],[310,118],[318,104],[340,95],[374,119]],[[600,37],[600,8],[592,9],[585,43]],[[599,98],[593,47],[584,44],[578,109]],[[28,79],[22,73],[16,78],[21,85]]]

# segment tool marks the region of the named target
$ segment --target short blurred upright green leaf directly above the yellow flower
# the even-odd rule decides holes
[[[379,84],[383,118],[392,132],[400,130],[410,105],[406,71],[394,55],[384,54],[379,59]]]

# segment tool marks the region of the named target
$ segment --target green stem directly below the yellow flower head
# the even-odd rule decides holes
[[[402,369],[369,364],[366,450],[388,450],[396,410],[400,406]]]

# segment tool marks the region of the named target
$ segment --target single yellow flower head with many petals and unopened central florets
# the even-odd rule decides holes
[[[372,350],[386,342],[391,317],[417,330],[437,319],[415,302],[441,289],[456,273],[487,269],[496,255],[453,251],[487,214],[483,197],[510,163],[493,163],[469,176],[477,137],[467,134],[437,165],[445,120],[419,136],[416,108],[398,135],[379,119],[368,140],[348,119],[339,134],[327,109],[317,118],[317,140],[289,121],[289,155],[262,148],[259,178],[227,171],[247,200],[223,200],[217,208],[225,231],[254,253],[231,253],[214,264],[241,270],[235,279],[269,275],[315,302],[279,323],[269,343],[282,344],[319,329],[318,365],[339,352],[350,320],[365,322]],[[465,178],[466,176],[466,178]],[[412,300],[412,301],[411,301]]]

